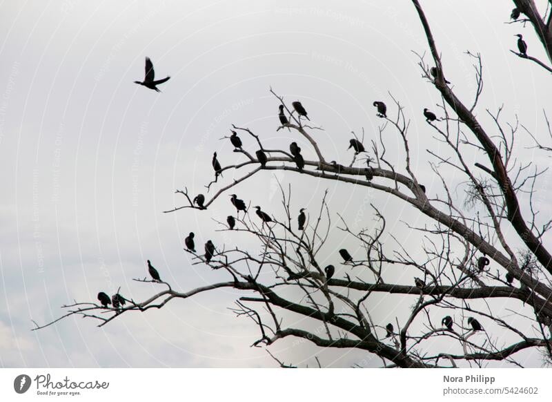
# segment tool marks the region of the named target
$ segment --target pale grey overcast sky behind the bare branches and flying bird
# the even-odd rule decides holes
[[[550,77],[509,52],[513,35],[524,33],[531,55],[546,57],[532,28],[504,23],[512,3],[422,4],[457,95],[472,99],[473,68],[464,52],[480,52],[482,121],[489,124],[485,108],[504,105],[505,119],[513,122],[517,114],[542,133]],[[146,259],[177,289],[226,280],[190,265],[181,248],[188,231],[199,244],[231,240],[214,231],[211,219],[233,213],[227,198],[208,211],[162,211],[182,204],[174,190],[184,185],[205,192],[213,151],[223,165],[240,158],[220,140],[231,124],[253,129],[268,148],[302,142],[297,133],[276,132],[278,102],[270,87],[287,102],[300,99],[325,129],[313,136],[326,158],[347,164],[351,131],[364,128],[365,143],[373,139],[381,120],[372,102],[391,105],[391,93],[412,120],[413,169],[437,194],[426,149],[440,145],[431,140],[422,109],[437,110],[440,97],[422,79],[413,52],[428,48],[407,0],[0,2],[0,366],[274,367],[264,349],[250,347],[257,327],[228,310],[236,298],[230,289],[125,314],[102,329],[69,318],[30,332],[31,320],[45,323],[62,314],[64,303],[95,300],[98,291],[119,286],[127,297],[145,298],[159,289],[132,281],[146,275]],[[132,83],[144,77],[146,56],[157,77],[171,76],[162,93]],[[396,135],[388,141],[391,153],[400,149]],[[522,153],[549,164],[546,155]],[[540,200],[550,199],[549,177]],[[315,211],[328,189],[330,206],[345,218],[353,220],[368,200],[395,214],[388,229],[405,244],[419,242],[401,222],[408,216],[416,223],[419,214],[386,195],[366,195],[365,188],[266,172],[235,191],[277,215],[278,180],[292,184],[295,211]],[[549,205],[541,207],[549,216]],[[368,213],[364,224],[373,224]],[[331,241],[337,248],[348,244],[338,233]],[[372,313],[387,321],[409,303],[397,302],[394,312],[374,305]],[[364,353],[319,352],[293,340],[270,350],[299,365],[315,364],[315,354],[326,366],[381,364]],[[539,365],[540,356],[527,361]]]

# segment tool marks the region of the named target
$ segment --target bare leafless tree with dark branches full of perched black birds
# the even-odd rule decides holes
[[[552,60],[552,2],[543,16],[533,1],[513,3],[523,16],[513,22],[533,26]],[[393,95],[389,94],[386,111],[382,113],[378,108],[381,124],[379,135],[370,144],[371,155],[362,156],[368,153],[355,149],[358,152],[351,162],[338,164],[328,162],[331,157],[322,153],[312,135],[322,128],[300,116],[284,97],[270,89],[288,119],[278,130],[285,128],[302,136],[316,158],[304,160],[297,151],[266,149],[254,129],[233,126],[232,131],[258,144],[266,161],[258,152],[254,157],[237,147],[234,152],[243,155],[244,160],[219,166],[213,182],[206,184],[207,193],[219,178],[224,180],[226,171],[233,171],[237,178],[221,184],[199,206],[188,189],[179,189],[176,193],[183,195],[184,204],[165,212],[214,207],[221,195],[253,175],[291,171],[311,180],[334,180],[384,192],[408,204],[430,222],[417,227],[403,217],[408,230],[418,234],[423,253],[414,255],[388,231],[388,219],[375,204],[371,204],[370,228],[366,223],[363,229],[353,230],[344,218],[331,211],[324,195],[304,230],[297,229],[297,214],[293,212],[297,207],[290,201],[292,189],[281,187],[283,213],[277,214],[280,218],[261,209],[255,213],[250,207],[247,212],[238,211],[235,229],[219,222],[223,231],[239,231],[255,238],[260,252],[215,245],[210,258],[209,253],[186,250],[195,264],[221,271],[224,278],[221,282],[177,291],[168,282],[135,278],[138,282],[159,283],[163,290],[147,300],[126,300],[126,305],[118,307],[75,302],[63,306],[67,313],[58,320],[81,315],[95,318],[103,326],[128,312],[146,312],[162,308],[172,299],[233,287],[243,292],[233,311],[237,316],[250,318],[258,327],[255,347],[272,345],[286,337],[302,338],[318,347],[370,352],[382,358],[384,367],[482,366],[489,361],[523,366],[518,356],[523,356],[524,350],[537,348],[542,352],[544,364],[551,363],[552,255],[542,244],[542,238],[551,228],[552,220],[539,215],[533,199],[546,169],[518,158],[514,144],[517,147],[531,144],[515,142],[516,134],[531,133],[517,122],[517,117],[513,123],[504,122],[499,108],[486,110],[493,126],[486,127],[477,119],[475,111],[480,110],[484,84],[480,54],[466,52],[475,72],[473,99],[462,100],[455,95],[453,85],[445,79],[441,53],[424,10],[417,0],[413,0],[413,6],[431,51],[429,61],[417,53],[422,79],[434,86],[442,99],[435,106],[441,118],[426,114],[433,140],[441,145],[439,152],[427,151],[428,164],[440,181],[439,189],[435,186],[426,189],[413,171],[408,134],[411,120]],[[550,70],[546,63],[527,53],[512,52]],[[533,68],[533,64],[527,68]],[[552,139],[546,113],[544,119]],[[386,142],[392,135],[400,139],[402,155],[389,155],[386,151]],[[541,144],[532,134],[531,137],[535,148],[551,151],[551,146]],[[467,156],[474,153],[480,162],[472,166]],[[451,189],[446,171],[461,175],[462,184]],[[459,189],[464,194],[463,200],[453,195]],[[362,250],[353,258],[344,259],[346,273],[339,277],[335,267],[322,257],[328,250],[334,252],[328,233],[335,229],[351,236]],[[388,247],[389,242],[393,242],[393,247]],[[390,266],[408,272],[411,283],[398,283],[388,272]],[[382,295],[390,303],[396,298],[409,298],[413,304],[402,318],[389,323],[375,322],[369,302]],[[304,326],[286,325],[288,320],[283,317],[289,315],[305,318],[293,320]],[[35,329],[58,320],[36,325]],[[314,329],[313,322],[317,323]],[[458,352],[450,352],[453,348]],[[282,367],[292,367],[273,357]]]

